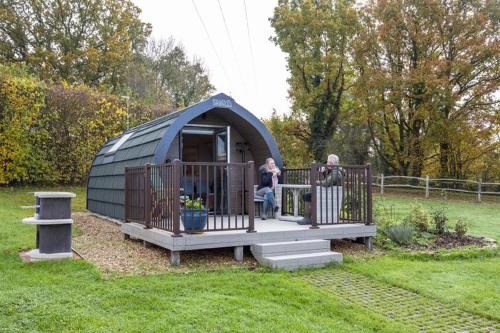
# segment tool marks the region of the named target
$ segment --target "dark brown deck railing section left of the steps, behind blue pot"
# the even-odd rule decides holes
[[[253,162],[175,161],[126,168],[125,221],[179,235],[184,231],[181,204],[200,198],[208,212],[203,231],[253,231],[254,173]]]

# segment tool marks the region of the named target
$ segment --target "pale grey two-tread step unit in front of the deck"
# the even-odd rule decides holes
[[[324,267],[342,262],[342,254],[330,251],[330,241],[315,239],[277,243],[257,243],[250,247],[255,259],[273,269],[294,270]]]

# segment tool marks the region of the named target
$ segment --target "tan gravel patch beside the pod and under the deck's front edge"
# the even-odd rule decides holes
[[[79,229],[78,236],[73,238],[74,249],[104,274],[157,274],[257,266],[247,249],[243,263],[236,262],[232,248],[185,251],[181,254],[181,266],[172,266],[169,250],[156,246],[145,248],[139,240],[124,240],[120,226],[113,222],[89,213],[76,213],[73,219]]]

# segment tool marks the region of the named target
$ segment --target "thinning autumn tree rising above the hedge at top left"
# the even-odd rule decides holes
[[[0,61],[24,62],[43,80],[123,84],[151,27],[129,0],[0,0]]]

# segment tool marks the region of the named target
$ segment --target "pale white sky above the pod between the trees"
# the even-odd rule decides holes
[[[216,93],[233,97],[259,118],[270,117],[273,109],[289,112],[286,54],[269,40],[277,1],[246,0],[248,21],[244,0],[133,2],[142,9],[141,19],[151,23],[153,38],[171,36],[190,58],[202,59]]]

